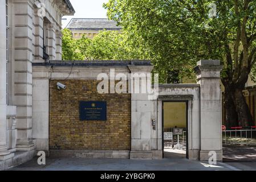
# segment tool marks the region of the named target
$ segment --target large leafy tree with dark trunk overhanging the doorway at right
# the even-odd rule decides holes
[[[220,59],[227,126],[253,125],[242,90],[256,61],[256,1],[109,0],[104,7],[129,38],[143,40],[162,80],[190,75],[200,59]]]

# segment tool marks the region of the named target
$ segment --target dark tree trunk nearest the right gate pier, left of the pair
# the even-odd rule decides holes
[[[232,91],[225,91],[224,93],[224,109],[225,109],[226,127],[238,126],[238,116],[237,116],[237,111],[235,109],[233,96],[234,96],[234,92]]]

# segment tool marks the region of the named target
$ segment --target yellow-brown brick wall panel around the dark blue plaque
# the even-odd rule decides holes
[[[58,90],[57,82],[66,90]],[[131,94],[99,94],[98,82],[50,81],[50,149],[131,149]],[[106,101],[107,121],[79,121],[79,101]]]

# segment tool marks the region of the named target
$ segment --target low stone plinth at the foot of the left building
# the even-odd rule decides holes
[[[0,161],[0,171],[25,163],[34,158],[35,154],[35,150],[15,152],[13,158]]]

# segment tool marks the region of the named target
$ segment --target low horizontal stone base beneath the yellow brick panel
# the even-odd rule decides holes
[[[51,158],[107,158],[129,159],[130,151],[104,151],[104,150],[50,150]]]

